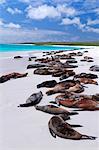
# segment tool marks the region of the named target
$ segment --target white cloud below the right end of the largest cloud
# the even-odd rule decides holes
[[[85,27],[85,24],[82,24],[79,17],[75,17],[73,19],[64,18],[62,19],[62,25],[77,25],[80,29]]]

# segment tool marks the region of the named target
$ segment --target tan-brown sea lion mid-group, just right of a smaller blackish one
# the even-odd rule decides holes
[[[66,80],[66,81],[59,82],[55,85],[54,88],[47,91],[46,94],[52,95],[55,93],[64,93],[64,92],[66,92],[66,89],[69,89],[70,87],[76,85],[76,82],[77,81],[74,81],[74,80]]]

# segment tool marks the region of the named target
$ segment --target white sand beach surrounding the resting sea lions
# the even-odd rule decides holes
[[[76,57],[78,68],[76,73],[94,73],[99,77],[99,72],[89,71],[92,65],[99,65],[99,47],[84,47],[80,51],[88,50],[84,54],[94,58],[94,62],[81,62],[81,57]],[[89,49],[87,49],[89,48]],[[68,51],[69,52],[69,51]],[[64,52],[64,53],[68,53]],[[15,60],[14,56],[21,55],[22,59]],[[19,108],[20,103],[33,93],[42,91],[44,96],[40,105],[49,104],[55,99],[55,95],[47,96],[47,88],[37,89],[37,84],[59,78],[34,75],[34,69],[26,69],[29,52],[0,53],[0,76],[11,72],[28,72],[28,76],[20,79],[12,79],[0,84],[0,150],[98,150],[99,149],[99,111],[81,111],[71,117],[68,123],[80,124],[83,127],[76,128],[82,134],[97,137],[96,140],[68,140],[53,138],[48,129],[48,121],[52,115],[35,110],[34,107]],[[33,56],[42,57],[42,52],[35,52]],[[96,79],[99,83],[99,78]],[[99,93],[99,85],[86,85],[84,93]],[[65,107],[64,107],[65,108]],[[67,110],[72,110],[65,108]]]

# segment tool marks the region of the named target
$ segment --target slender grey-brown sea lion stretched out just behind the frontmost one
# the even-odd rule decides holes
[[[59,115],[59,114],[67,114],[67,115],[76,115],[78,113],[69,112],[66,109],[54,106],[54,105],[45,105],[45,106],[35,106],[36,110],[40,110],[49,114]]]

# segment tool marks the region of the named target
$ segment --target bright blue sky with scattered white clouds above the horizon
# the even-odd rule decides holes
[[[0,0],[0,43],[99,41],[99,0]]]

